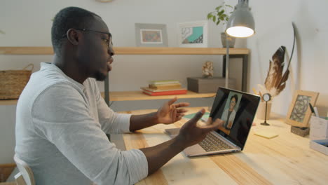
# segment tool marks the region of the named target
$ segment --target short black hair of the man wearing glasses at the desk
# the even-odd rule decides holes
[[[51,41],[55,53],[60,55],[62,41],[67,30],[71,28],[83,29],[95,16],[100,18],[99,15],[78,7],[67,7],[59,11],[55,15],[53,27],[51,27]]]

